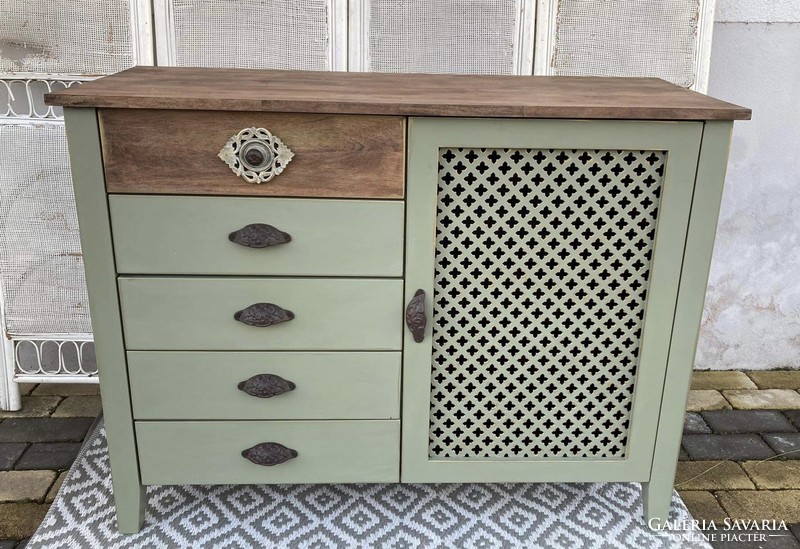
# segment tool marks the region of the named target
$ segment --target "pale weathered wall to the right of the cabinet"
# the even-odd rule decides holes
[[[696,368],[800,368],[800,2],[718,0],[709,94],[737,122]]]

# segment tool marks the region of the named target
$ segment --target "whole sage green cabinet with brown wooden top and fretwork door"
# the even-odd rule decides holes
[[[584,482],[666,518],[732,121],[655,79],[136,68],[65,106],[144,486]]]

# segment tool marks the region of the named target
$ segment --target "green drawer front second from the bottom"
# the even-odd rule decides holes
[[[395,352],[131,351],[128,372],[136,419],[400,417]],[[247,380],[249,393],[238,388]],[[274,396],[251,394],[259,386]]]

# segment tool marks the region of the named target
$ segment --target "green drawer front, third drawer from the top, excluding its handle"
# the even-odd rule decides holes
[[[401,348],[403,282],[333,278],[119,278],[129,350],[386,350]],[[234,320],[256,303],[294,319]]]

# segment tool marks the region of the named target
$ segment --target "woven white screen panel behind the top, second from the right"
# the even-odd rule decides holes
[[[533,2],[353,0],[350,70],[530,74]]]

